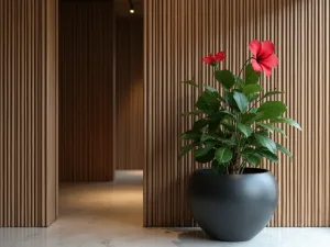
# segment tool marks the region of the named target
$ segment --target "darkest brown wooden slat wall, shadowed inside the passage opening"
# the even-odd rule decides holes
[[[59,179],[113,179],[112,1],[63,1],[59,18]]]

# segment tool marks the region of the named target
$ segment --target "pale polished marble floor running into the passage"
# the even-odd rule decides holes
[[[114,183],[62,184],[61,217],[47,228],[0,228],[0,247],[329,247],[330,228],[265,228],[246,243],[208,239],[198,228],[143,228],[142,173]]]

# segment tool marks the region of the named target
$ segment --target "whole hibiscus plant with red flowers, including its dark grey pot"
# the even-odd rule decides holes
[[[278,161],[277,151],[292,153],[273,141],[275,133],[285,135],[278,124],[299,124],[284,116],[287,106],[264,92],[258,82],[262,72],[271,76],[277,66],[274,44],[252,41],[252,53],[239,74],[220,69],[224,52],[210,54],[202,61],[213,68],[217,90],[195,81],[185,81],[200,90],[195,103],[197,121],[182,134],[187,143],[179,157],[190,150],[197,162],[210,168],[193,172],[188,184],[191,213],[199,226],[212,238],[230,242],[249,240],[270,222],[277,205],[277,182],[271,171],[258,168],[263,159]]]

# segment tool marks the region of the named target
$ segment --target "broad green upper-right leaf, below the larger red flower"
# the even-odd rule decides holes
[[[268,101],[260,105],[256,113],[260,114],[258,121],[276,119],[286,111],[286,105],[280,101]]]

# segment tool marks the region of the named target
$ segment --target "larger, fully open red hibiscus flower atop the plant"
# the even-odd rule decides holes
[[[266,76],[272,75],[272,68],[277,66],[278,59],[274,54],[275,46],[270,41],[252,41],[249,44],[249,48],[253,54],[252,67],[255,71],[265,71]]]

